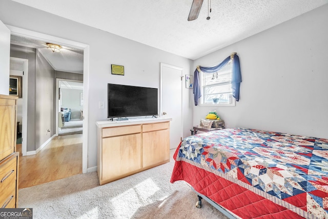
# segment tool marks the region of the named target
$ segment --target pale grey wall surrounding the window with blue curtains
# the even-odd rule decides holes
[[[328,138],[328,5],[194,61],[212,66],[231,52],[242,83],[235,107],[194,106],[194,125],[216,110],[228,128]]]

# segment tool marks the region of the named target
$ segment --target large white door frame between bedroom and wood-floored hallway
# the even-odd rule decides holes
[[[88,172],[88,115],[89,115],[89,56],[90,56],[90,46],[87,44],[71,41],[69,39],[60,38],[57,36],[52,36],[44,33],[39,33],[19,27],[14,27],[10,25],[6,25],[7,28],[10,30],[10,34],[17,35],[17,36],[23,36],[27,38],[36,39],[39,41],[44,42],[52,42],[59,45],[67,45],[70,47],[74,47],[77,49],[83,49],[84,55],[83,55],[83,81],[84,81],[84,87],[83,87],[83,93],[84,93],[84,111],[83,115],[86,118],[83,120],[83,143],[82,143],[82,172],[87,173]],[[55,119],[55,118],[54,118]],[[93,171],[93,168],[91,168],[90,171]]]

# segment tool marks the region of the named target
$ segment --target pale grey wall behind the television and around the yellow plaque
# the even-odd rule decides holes
[[[107,119],[107,84],[159,88],[160,63],[183,68],[191,74],[192,61],[126,38],[72,22],[15,2],[0,2],[0,19],[6,24],[89,45],[88,168],[97,165],[96,121]],[[49,25],[51,24],[51,25]],[[112,75],[111,64],[125,67],[125,75]],[[191,89],[182,89],[184,133],[192,127]],[[85,97],[86,98],[86,97]],[[105,109],[98,109],[99,101]]]

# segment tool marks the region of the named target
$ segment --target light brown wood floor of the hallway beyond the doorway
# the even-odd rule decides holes
[[[36,155],[22,156],[22,145],[17,151],[18,189],[82,173],[82,134],[56,136]]]

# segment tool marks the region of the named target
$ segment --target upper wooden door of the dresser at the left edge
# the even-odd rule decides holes
[[[15,105],[15,99],[0,98],[0,161],[13,153],[16,145]]]

